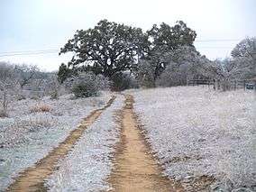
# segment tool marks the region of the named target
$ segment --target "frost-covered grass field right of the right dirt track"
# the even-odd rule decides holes
[[[171,87],[132,93],[151,147],[170,178],[185,185],[209,176],[215,178],[212,190],[256,190],[254,92]]]

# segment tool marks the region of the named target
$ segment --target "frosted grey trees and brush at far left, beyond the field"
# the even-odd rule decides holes
[[[0,62],[0,117],[7,115],[8,104],[27,97],[57,97],[56,73],[42,72],[35,66]]]

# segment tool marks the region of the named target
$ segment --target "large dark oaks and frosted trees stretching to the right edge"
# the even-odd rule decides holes
[[[73,52],[73,57],[60,65],[59,82],[88,71],[108,78],[117,90],[186,85],[187,78],[255,77],[255,38],[240,42],[231,59],[211,61],[196,50],[196,37],[182,21],[154,24],[143,32],[102,20],[92,29],[78,30],[60,49],[59,54]]]

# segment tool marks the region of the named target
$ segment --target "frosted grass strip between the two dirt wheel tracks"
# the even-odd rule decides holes
[[[123,106],[123,96],[87,128],[64,160],[59,170],[48,179],[50,191],[103,191],[110,188],[106,178],[113,168],[114,145],[119,141],[120,129],[114,113]]]

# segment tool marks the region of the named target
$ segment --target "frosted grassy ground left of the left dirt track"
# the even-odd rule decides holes
[[[32,166],[63,142],[82,118],[103,107],[110,93],[92,98],[41,101],[26,99],[10,104],[8,118],[0,118],[0,191],[23,169]],[[34,113],[36,105],[50,106],[50,112]]]

